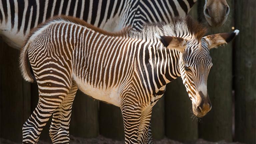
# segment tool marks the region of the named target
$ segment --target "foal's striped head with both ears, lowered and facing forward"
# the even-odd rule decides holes
[[[235,30],[231,33],[219,33],[205,37],[192,34],[189,39],[174,36],[158,37],[166,48],[180,51],[181,78],[192,101],[193,113],[197,117],[203,117],[212,107],[207,91],[207,78],[213,65],[210,49],[227,44],[238,33],[239,31]]]

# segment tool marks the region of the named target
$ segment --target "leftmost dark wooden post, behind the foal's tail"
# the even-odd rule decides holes
[[[0,40],[1,138],[22,142],[22,126],[30,116],[30,83],[19,69],[19,50]]]

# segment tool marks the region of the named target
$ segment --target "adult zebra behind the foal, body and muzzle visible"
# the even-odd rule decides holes
[[[197,0],[1,0],[0,30],[3,39],[20,49],[30,29],[55,15],[78,17],[108,31],[145,22],[170,22],[185,16]],[[205,0],[204,15],[210,26],[222,26],[229,14],[226,0]]]

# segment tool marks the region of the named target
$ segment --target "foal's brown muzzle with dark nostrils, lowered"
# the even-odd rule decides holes
[[[196,97],[197,101],[195,104],[193,104],[193,113],[197,117],[203,117],[212,109],[208,92],[206,95],[204,95],[202,91],[199,91],[197,92]]]

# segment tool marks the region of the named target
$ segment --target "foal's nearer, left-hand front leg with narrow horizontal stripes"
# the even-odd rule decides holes
[[[121,106],[125,144],[138,144],[141,108],[135,104]]]

